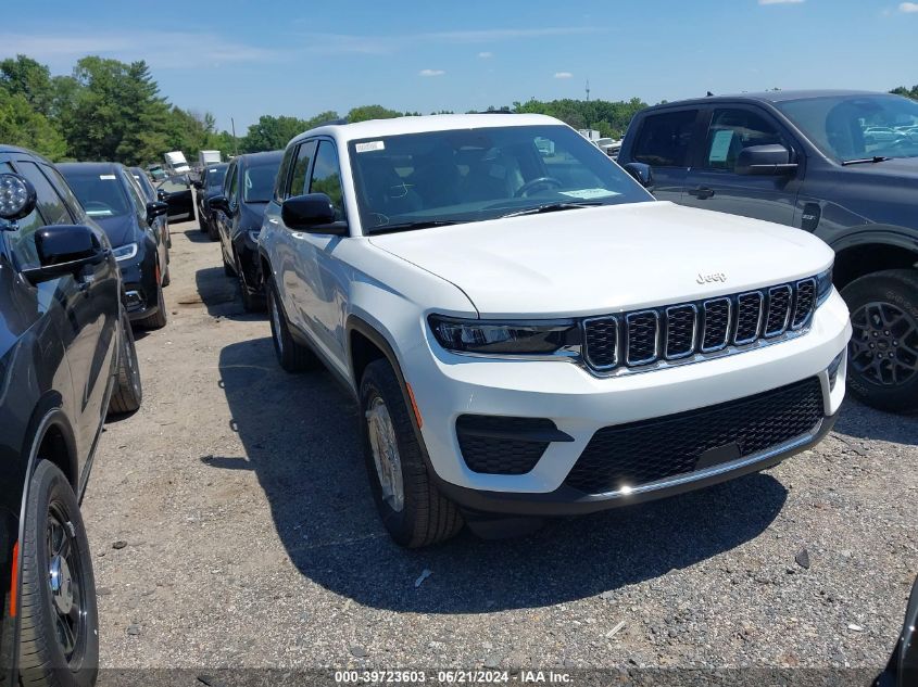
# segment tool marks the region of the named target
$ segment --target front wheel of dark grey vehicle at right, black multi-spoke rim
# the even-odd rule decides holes
[[[867,275],[842,289],[842,297],[854,327],[851,392],[881,410],[918,410],[918,270]]]

